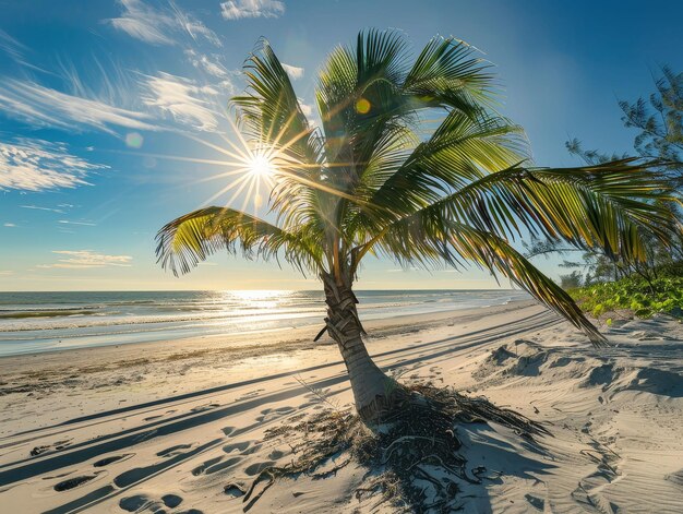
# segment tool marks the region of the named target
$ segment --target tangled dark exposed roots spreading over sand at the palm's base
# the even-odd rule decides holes
[[[297,426],[268,430],[266,439],[286,441],[295,458],[255,477],[243,498],[244,511],[278,478],[322,479],[355,463],[368,468],[356,498],[376,498],[372,509],[391,502],[397,511],[454,512],[460,509],[459,483],[481,483],[486,473],[466,469],[467,462],[458,453],[458,425],[493,421],[530,441],[549,434],[541,425],[484,398],[426,383],[409,385],[407,391],[406,401],[381,426],[369,428],[350,410],[326,410]]]

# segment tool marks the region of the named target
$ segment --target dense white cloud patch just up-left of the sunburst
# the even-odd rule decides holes
[[[170,115],[173,120],[199,130],[215,130],[217,113],[212,109],[211,97],[218,92],[211,86],[199,86],[193,81],[160,73],[145,76],[147,92],[143,101]]]

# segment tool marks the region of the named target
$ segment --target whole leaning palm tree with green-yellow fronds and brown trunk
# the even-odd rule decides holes
[[[652,201],[670,188],[633,159],[530,167],[522,129],[493,110],[489,70],[454,38],[433,38],[412,60],[403,34],[361,32],[355,47],[336,48],[320,72],[317,127],[261,41],[244,64],[248,88],[231,105],[241,132],[275,170],[274,220],[201,208],[159,230],[159,262],[187,273],[227,249],[284,258],[319,276],[327,304],[323,332],[338,344],[366,421],[405,395],[362,340],[354,283],[368,254],[424,268],[471,261],[603,344],[566,292],[510,241],[530,234],[643,260],[644,235],[669,238],[673,222]]]

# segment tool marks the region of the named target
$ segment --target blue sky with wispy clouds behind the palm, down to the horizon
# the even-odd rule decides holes
[[[0,0],[0,290],[316,288],[225,254],[179,279],[155,263],[156,230],[225,186],[202,181],[216,165],[166,157],[221,158],[200,141],[233,138],[216,110],[243,88],[261,36],[309,106],[326,53],[361,28],[400,28],[416,49],[462,38],[496,65],[501,110],[547,166],[577,164],[574,136],[628,152],[616,99],[648,95],[660,64],[683,69],[679,2]],[[358,285],[494,286],[383,261]]]

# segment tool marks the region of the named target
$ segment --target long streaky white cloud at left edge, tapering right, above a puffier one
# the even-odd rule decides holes
[[[110,125],[156,130],[149,115],[112,107],[104,101],[69,95],[33,81],[0,84],[0,110],[36,125],[73,130],[74,123],[113,132]]]

